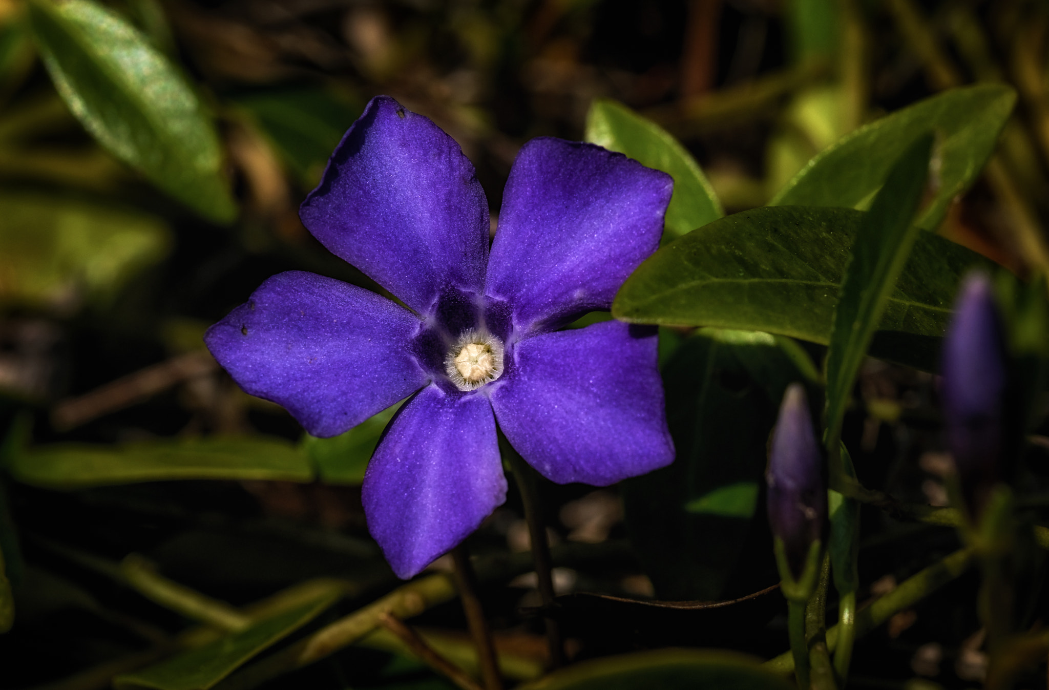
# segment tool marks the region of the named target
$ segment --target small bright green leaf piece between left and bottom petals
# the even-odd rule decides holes
[[[317,467],[321,481],[358,486],[364,481],[364,471],[368,469],[368,460],[376,452],[383,430],[400,408],[401,403],[398,403],[330,438],[303,434],[299,447]]]

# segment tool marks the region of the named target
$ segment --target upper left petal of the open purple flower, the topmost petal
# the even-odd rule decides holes
[[[389,96],[368,103],[299,215],[331,253],[420,314],[449,288],[484,286],[488,201],[473,165]]]

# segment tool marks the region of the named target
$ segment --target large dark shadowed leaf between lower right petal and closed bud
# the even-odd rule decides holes
[[[806,379],[772,336],[716,328],[687,339],[663,367],[676,461],[621,484],[630,541],[661,599],[732,599],[774,582],[759,567],[731,576],[748,538],[767,533],[753,519],[777,401]],[[771,566],[771,542],[750,546]]]

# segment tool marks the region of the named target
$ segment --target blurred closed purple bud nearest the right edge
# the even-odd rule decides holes
[[[979,515],[1002,476],[1008,386],[1002,320],[990,279],[970,274],[962,282],[943,344],[943,416],[966,505]]]

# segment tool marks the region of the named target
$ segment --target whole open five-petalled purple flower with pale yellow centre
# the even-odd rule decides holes
[[[656,333],[608,309],[659,245],[672,181],[556,138],[521,149],[489,253],[485,193],[458,145],[388,96],[343,136],[300,215],[394,295],[309,273],[266,280],[208,331],[240,386],[316,436],[405,396],[364,478],[368,529],[413,576],[506,498],[496,422],[556,482],[606,486],[669,463]]]

